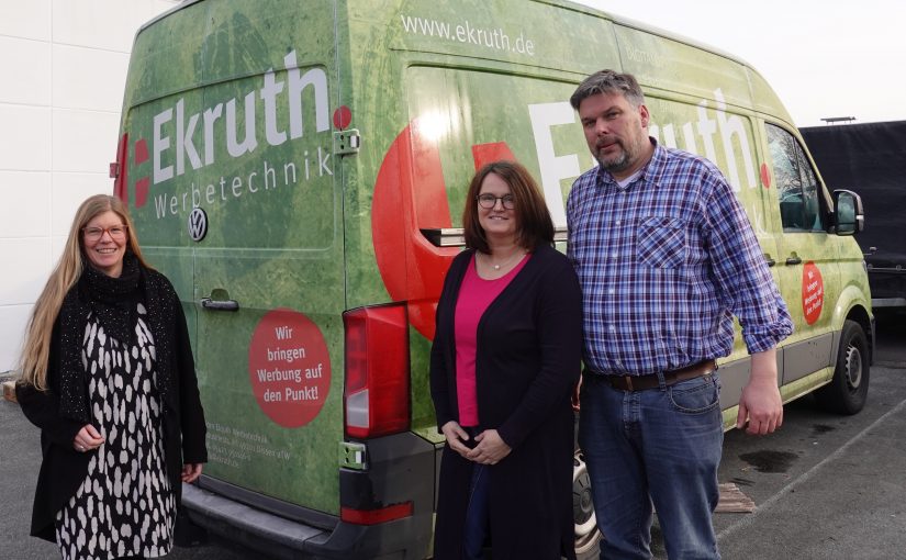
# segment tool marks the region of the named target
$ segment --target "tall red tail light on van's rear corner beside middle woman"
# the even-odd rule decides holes
[[[346,435],[366,439],[410,427],[409,318],[404,304],[343,314]]]

